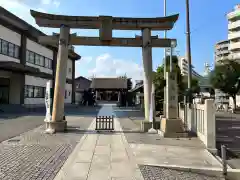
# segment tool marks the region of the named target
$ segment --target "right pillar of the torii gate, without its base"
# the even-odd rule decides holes
[[[151,47],[151,30],[145,28],[142,30],[142,57],[144,71],[144,111],[145,119],[149,120],[149,105],[151,103],[152,89],[152,47]]]

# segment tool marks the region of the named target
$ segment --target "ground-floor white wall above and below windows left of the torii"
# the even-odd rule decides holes
[[[25,75],[25,85],[46,87],[48,79]],[[24,104],[44,104],[44,98],[25,98]]]

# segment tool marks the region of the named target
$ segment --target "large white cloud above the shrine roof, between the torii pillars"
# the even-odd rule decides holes
[[[133,81],[143,79],[142,65],[132,60],[115,59],[110,54],[106,53],[95,59],[95,65],[88,70],[87,76],[117,77],[125,74],[127,77],[132,78]]]

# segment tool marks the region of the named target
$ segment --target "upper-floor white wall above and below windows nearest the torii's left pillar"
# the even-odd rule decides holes
[[[53,51],[30,40],[30,39],[27,39],[27,50],[30,50],[32,52],[35,52],[37,54],[40,54],[44,57],[47,57],[49,59],[53,59]],[[31,64],[31,63],[28,63],[26,62],[26,64],[28,66],[31,66],[31,67],[35,67],[35,68],[39,68],[41,72],[45,72],[45,73],[48,73],[48,74],[52,74],[53,71],[51,69],[48,69],[48,68],[44,68],[44,67],[41,67],[41,66],[38,66],[38,65],[34,65],[34,64]]]

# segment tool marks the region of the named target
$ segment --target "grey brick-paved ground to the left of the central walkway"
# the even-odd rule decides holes
[[[93,118],[67,117],[67,120],[67,133],[48,135],[44,133],[44,127],[40,126],[2,142],[0,179],[53,179]]]

